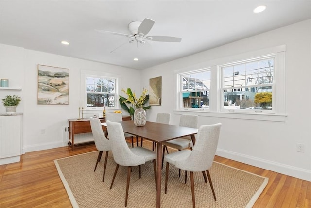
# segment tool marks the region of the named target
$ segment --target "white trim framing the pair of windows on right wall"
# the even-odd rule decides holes
[[[262,120],[262,121],[276,121],[285,122],[286,106],[285,106],[285,51],[286,45],[279,45],[271,48],[265,48],[257,51],[247,52],[239,55],[234,55],[230,57],[223,57],[214,60],[208,60],[193,66],[188,66],[183,69],[174,70],[176,75],[176,89],[175,96],[178,102],[176,102],[176,109],[173,110],[175,114],[197,114],[199,116],[207,117],[219,117],[219,118],[233,118],[233,119],[247,119],[247,120]],[[252,59],[256,57],[264,57],[267,55],[276,54],[275,66],[276,71],[274,72],[275,79],[275,95],[274,95],[274,108],[275,113],[243,113],[243,112],[221,112],[221,74],[219,70],[220,65],[225,65],[227,63],[239,62],[242,60]],[[180,108],[180,95],[179,95],[179,74],[186,73],[187,71],[196,71],[194,69],[207,69],[211,70],[211,90],[209,92],[210,97],[217,95],[216,98],[209,101],[209,111],[193,111],[192,109],[182,109]],[[217,81],[213,81],[217,80]]]

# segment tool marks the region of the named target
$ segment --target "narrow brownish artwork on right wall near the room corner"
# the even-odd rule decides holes
[[[162,76],[149,79],[149,104],[161,105]]]

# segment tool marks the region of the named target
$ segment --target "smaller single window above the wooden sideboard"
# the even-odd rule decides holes
[[[87,75],[85,83],[87,108],[117,107],[117,78]]]

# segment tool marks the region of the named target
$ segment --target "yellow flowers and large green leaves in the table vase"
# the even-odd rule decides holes
[[[127,88],[127,91],[122,89],[122,92],[124,92],[127,95],[127,98],[119,96],[120,105],[124,110],[130,113],[130,116],[133,118],[134,121],[135,121],[134,112],[136,109],[142,108],[143,110],[146,110],[146,109],[151,108],[151,106],[143,107],[149,101],[149,95],[146,95],[147,93],[146,88],[143,88],[142,93],[139,98],[136,98],[136,94],[135,92],[132,92],[131,88]],[[132,106],[128,107],[126,104],[132,104]],[[146,115],[142,117],[145,117],[146,119]]]

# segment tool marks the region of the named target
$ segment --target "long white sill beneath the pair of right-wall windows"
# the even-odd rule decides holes
[[[173,110],[174,114],[195,114],[203,117],[232,118],[259,121],[285,122],[285,114],[268,113],[231,113],[231,112],[210,112],[210,111],[191,111],[191,110]],[[189,113],[186,113],[189,112]]]

